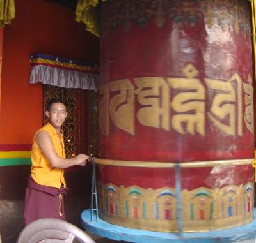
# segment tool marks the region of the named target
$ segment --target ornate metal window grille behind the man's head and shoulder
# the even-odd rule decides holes
[[[47,103],[54,98],[61,99],[66,107],[68,116],[62,126],[64,133],[65,153],[67,158],[73,158],[81,153],[82,149],[82,91],[81,89],[66,89],[52,85],[44,85],[44,121],[46,124],[45,108]]]

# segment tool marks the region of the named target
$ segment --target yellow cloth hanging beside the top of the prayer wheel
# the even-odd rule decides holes
[[[87,31],[100,37],[99,17],[97,10],[94,8],[98,3],[99,0],[78,0],[76,6],[76,21],[83,22],[86,25]]]

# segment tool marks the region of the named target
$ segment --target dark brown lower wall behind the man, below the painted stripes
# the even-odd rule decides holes
[[[2,243],[15,243],[24,228],[24,196],[30,166],[0,166],[0,234]],[[66,218],[81,228],[80,214],[90,207],[92,166],[65,172],[69,188],[65,196]],[[0,240],[0,242],[1,242]]]

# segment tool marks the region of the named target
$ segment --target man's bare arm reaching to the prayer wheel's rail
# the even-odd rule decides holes
[[[86,165],[86,159],[88,159],[86,154],[78,154],[75,158],[72,159],[63,159],[58,156],[53,147],[51,137],[46,131],[40,131],[36,135],[36,144],[41,149],[44,156],[48,159],[52,167],[68,168],[73,165]]]

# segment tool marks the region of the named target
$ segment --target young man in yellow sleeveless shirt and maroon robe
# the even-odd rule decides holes
[[[61,126],[67,109],[60,99],[52,99],[45,115],[48,123],[33,138],[31,176],[26,188],[24,205],[25,225],[36,219],[52,217],[65,220],[63,194],[67,188],[63,168],[86,165],[88,156],[78,154],[66,159]]]

